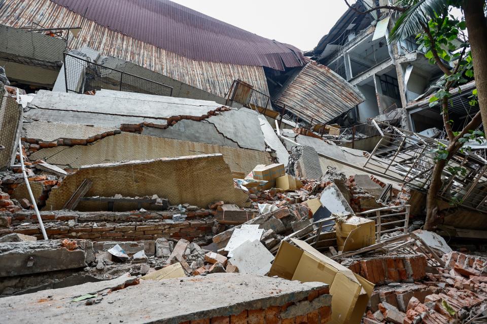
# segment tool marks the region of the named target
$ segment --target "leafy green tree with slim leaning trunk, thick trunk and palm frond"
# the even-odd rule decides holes
[[[345,3],[348,5],[346,0]],[[464,17],[461,20],[448,14],[448,8],[451,6],[463,10]],[[485,19],[485,0],[398,0],[394,6],[379,8],[390,9],[400,14],[389,35],[389,42],[397,42],[400,39],[416,35],[416,40],[425,49],[425,56],[430,63],[436,64],[444,73],[444,77],[440,79],[440,90],[430,100],[430,106],[441,104],[443,125],[449,141],[447,145],[439,145],[433,151],[436,153],[436,161],[427,194],[425,223],[425,229],[432,230],[440,219],[437,213],[436,194],[442,186],[441,174],[447,161],[458,150],[462,149],[464,143],[469,139],[483,136],[482,132],[476,131],[482,120],[483,125],[487,125],[487,20]],[[465,30],[468,32],[468,37]],[[454,41],[457,39],[463,41],[459,50],[454,45]],[[452,63],[451,65],[454,67],[451,68],[448,63]],[[466,83],[467,79],[471,77],[475,78],[477,89],[472,92],[470,104],[476,105],[478,103],[480,111],[462,131],[454,132],[452,129],[453,121],[448,116],[449,98],[451,96],[449,91]],[[462,172],[462,170],[450,170],[449,168],[446,170],[454,174]],[[462,202],[457,201],[456,203],[461,204]]]

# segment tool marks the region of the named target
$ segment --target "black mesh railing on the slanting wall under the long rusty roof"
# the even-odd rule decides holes
[[[89,93],[101,89],[172,96],[172,87],[112,69],[78,56],[64,53],[66,92]]]

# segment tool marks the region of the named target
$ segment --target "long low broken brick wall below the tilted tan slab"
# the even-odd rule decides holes
[[[138,241],[184,238],[192,241],[212,235],[215,220],[208,210],[188,212],[187,219],[172,222],[175,212],[73,212],[41,211],[50,239],[79,238],[93,241]],[[43,239],[34,211],[0,213],[0,236],[10,233]]]

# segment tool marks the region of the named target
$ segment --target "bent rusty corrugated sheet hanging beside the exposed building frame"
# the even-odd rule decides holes
[[[327,123],[365,100],[356,88],[325,65],[311,61],[297,71],[275,94],[274,102],[304,120]]]

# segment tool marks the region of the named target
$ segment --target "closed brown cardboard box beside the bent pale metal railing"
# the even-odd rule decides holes
[[[336,222],[338,251],[357,251],[375,244],[375,222],[352,216],[344,223]]]

